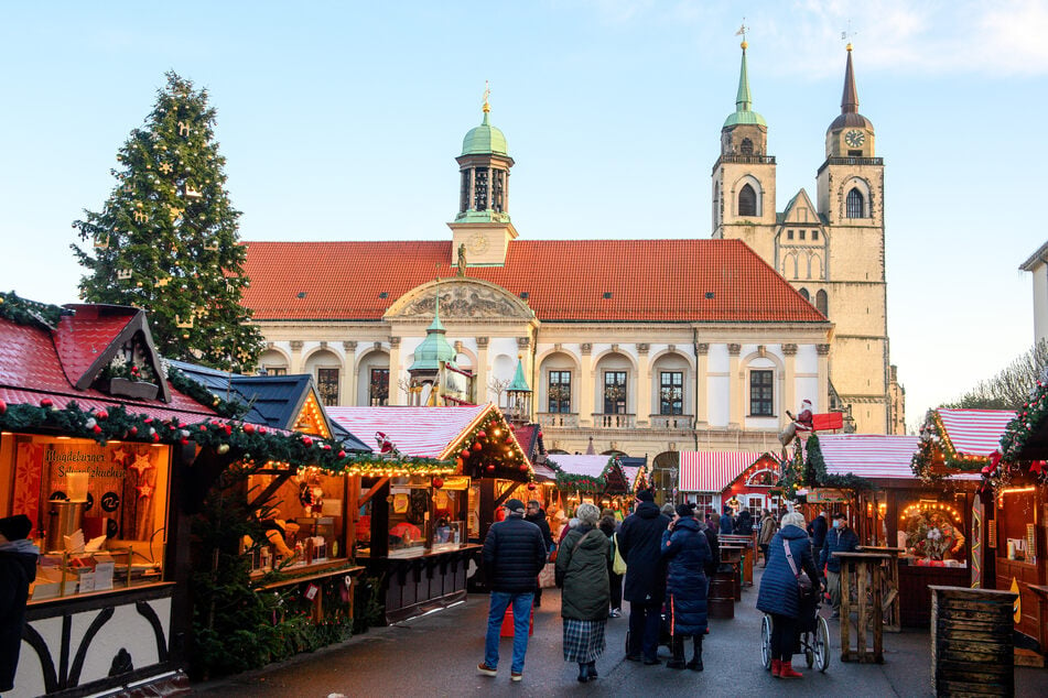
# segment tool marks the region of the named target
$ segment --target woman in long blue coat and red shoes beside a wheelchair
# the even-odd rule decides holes
[[[776,678],[801,678],[801,674],[793,670],[801,571],[808,575],[813,588],[820,586],[804,516],[791,512],[782,516],[782,527],[771,537],[768,564],[757,592],[757,610],[771,615],[771,676]]]

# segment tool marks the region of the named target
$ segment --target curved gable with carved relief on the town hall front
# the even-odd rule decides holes
[[[433,317],[436,282],[412,288],[386,312],[387,320]],[[441,320],[532,320],[534,312],[501,286],[477,279],[452,279],[440,282]]]

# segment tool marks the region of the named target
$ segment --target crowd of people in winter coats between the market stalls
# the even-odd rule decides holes
[[[541,603],[537,579],[551,559],[562,589],[563,656],[579,666],[580,683],[597,678],[607,621],[622,614],[624,600],[629,601],[626,659],[660,665],[658,647],[669,644],[668,668],[703,670],[702,642],[709,632],[710,578],[720,563],[719,536],[754,533],[765,567],[757,609],[771,618],[771,675],[799,678],[792,656],[803,595],[829,589],[834,615],[839,614],[840,563],[833,553],[858,546],[843,513],[834,514],[831,527],[825,512],[806,524],[800,512],[776,516],[764,510],[755,528],[746,509],[737,515],[730,506],[722,514],[699,515],[691,503],[659,508],[650,490],[637,493],[633,513],[622,522],[611,510],[602,512],[584,502],[572,519],[564,517],[560,532],[551,530],[540,502],[525,505],[510,499],[504,509],[505,520],[491,526],[484,542],[491,596],[485,656],[477,670],[497,676],[499,632],[512,608],[515,681],[523,674],[532,604]],[[689,639],[692,652],[685,661]]]

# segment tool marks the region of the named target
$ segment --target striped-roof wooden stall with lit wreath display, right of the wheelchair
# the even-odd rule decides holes
[[[919,443],[917,436],[819,437],[828,476],[865,482],[854,490],[823,490],[820,506],[845,511],[864,549],[884,550],[897,560],[895,569],[885,571],[889,626],[927,628],[931,618],[928,587],[968,587],[972,576],[970,532],[976,478],[943,475],[934,483],[918,478],[911,461]],[[840,490],[838,497],[834,490]]]

